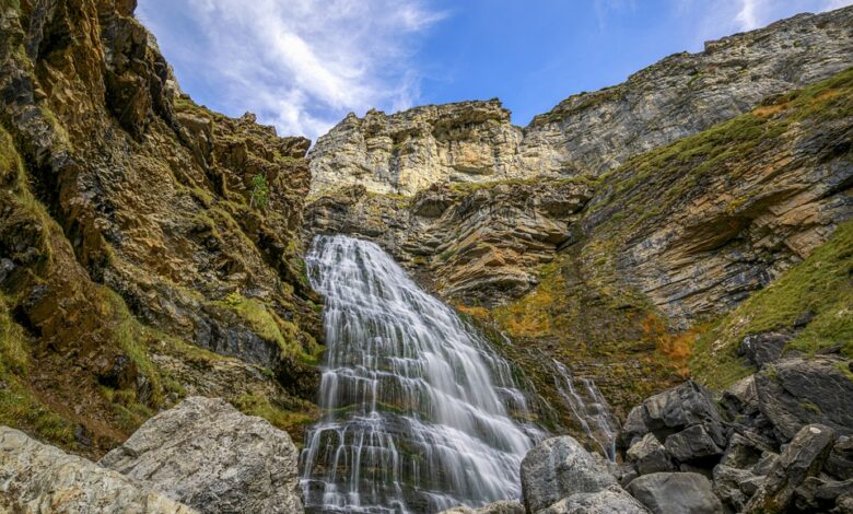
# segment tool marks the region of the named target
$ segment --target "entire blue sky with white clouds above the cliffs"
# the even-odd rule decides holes
[[[669,54],[853,0],[140,0],[184,91],[312,139],[347,113],[499,97],[526,125]]]

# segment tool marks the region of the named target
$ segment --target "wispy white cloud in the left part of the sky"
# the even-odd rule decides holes
[[[139,14],[190,91],[215,84],[215,107],[316,138],[350,110],[417,101],[410,57],[445,16],[426,1],[151,0]]]

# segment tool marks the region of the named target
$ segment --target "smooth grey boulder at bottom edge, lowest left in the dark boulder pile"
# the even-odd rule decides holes
[[[723,504],[711,481],[694,472],[653,472],[628,486],[628,491],[654,514],[718,514]]]

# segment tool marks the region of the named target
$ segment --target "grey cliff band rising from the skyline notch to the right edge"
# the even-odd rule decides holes
[[[701,132],[768,96],[848,68],[853,9],[783,20],[676,54],[627,82],[564,100],[525,128],[537,174],[600,175],[631,156]]]

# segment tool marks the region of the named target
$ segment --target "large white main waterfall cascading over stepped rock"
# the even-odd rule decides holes
[[[509,364],[374,243],[318,236],[324,418],[307,434],[309,512],[439,512],[521,497],[540,432]]]

